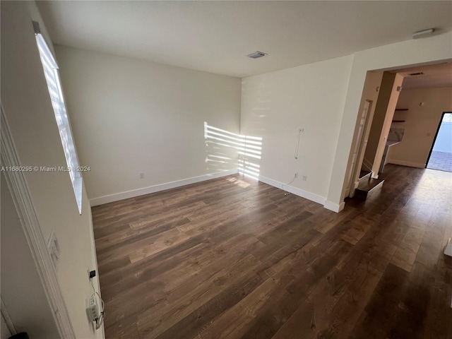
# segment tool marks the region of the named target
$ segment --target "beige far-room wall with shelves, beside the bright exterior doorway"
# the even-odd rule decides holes
[[[421,106],[421,102],[424,104]],[[452,112],[452,88],[402,90],[394,128],[405,129],[403,141],[391,146],[388,162],[424,168],[443,112]]]

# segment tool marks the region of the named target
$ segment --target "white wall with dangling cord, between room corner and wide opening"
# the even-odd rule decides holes
[[[261,180],[287,184],[297,172],[295,193],[325,201],[352,61],[340,57],[242,80],[241,133],[263,138]],[[304,132],[296,160],[298,129]]]

